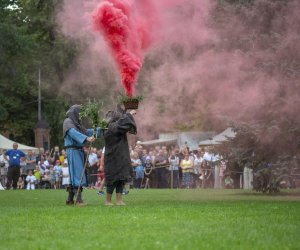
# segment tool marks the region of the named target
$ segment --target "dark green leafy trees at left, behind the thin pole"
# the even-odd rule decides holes
[[[76,56],[74,42],[56,31],[54,13],[61,1],[1,1],[0,131],[33,144],[37,122],[38,70],[42,72],[43,114],[51,141],[61,144],[61,121],[67,101],[59,95],[64,74]],[[55,111],[55,112],[53,112]]]

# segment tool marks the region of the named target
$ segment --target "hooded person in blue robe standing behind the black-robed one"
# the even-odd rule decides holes
[[[82,200],[82,187],[87,186],[87,176],[84,171],[85,164],[85,154],[83,146],[89,142],[95,141],[94,133],[96,136],[100,136],[100,128],[96,131],[93,129],[85,129],[80,121],[80,105],[73,105],[66,113],[66,118],[63,123],[63,135],[64,135],[64,145],[66,147],[69,176],[70,176],[70,186],[67,188],[68,198],[66,201],[67,205],[74,204],[74,196],[79,189],[76,204],[83,204]],[[83,178],[81,180],[81,175]]]

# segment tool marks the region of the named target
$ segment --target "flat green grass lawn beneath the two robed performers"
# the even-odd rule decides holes
[[[66,195],[1,191],[0,249],[300,249],[299,190],[130,190],[125,207]]]

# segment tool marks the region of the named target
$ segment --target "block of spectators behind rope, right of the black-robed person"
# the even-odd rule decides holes
[[[226,162],[210,148],[130,148],[134,188],[233,188]]]

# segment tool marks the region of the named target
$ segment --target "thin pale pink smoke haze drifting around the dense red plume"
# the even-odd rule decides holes
[[[81,82],[111,94],[120,88],[117,65],[91,25],[101,2],[65,0],[58,14],[64,34],[84,44],[64,86]],[[298,1],[257,0],[237,8],[225,1],[148,0],[148,12],[140,1],[126,2],[152,24],[135,93],[146,97],[140,136],[218,129],[272,112],[299,114]]]

